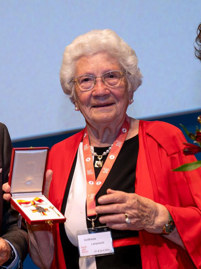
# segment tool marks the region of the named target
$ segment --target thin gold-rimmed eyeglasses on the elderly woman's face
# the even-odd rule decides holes
[[[115,71],[109,71],[101,76],[102,82],[105,84],[105,86],[109,88],[117,88],[120,86],[122,77],[125,74],[123,74],[121,71],[115,70]],[[90,91],[94,88],[96,85],[96,78],[92,75],[81,75],[76,77],[74,80],[71,81],[76,83],[78,88],[82,92]]]

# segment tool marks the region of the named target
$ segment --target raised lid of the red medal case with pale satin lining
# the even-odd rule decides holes
[[[10,193],[44,192],[49,147],[13,148]]]

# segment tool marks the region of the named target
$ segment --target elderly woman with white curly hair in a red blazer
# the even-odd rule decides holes
[[[65,49],[61,86],[86,127],[50,152],[49,199],[67,220],[52,232],[28,227],[41,268],[201,268],[201,173],[171,171],[195,160],[183,155],[179,129],[127,116],[142,83],[137,64],[134,50],[109,29]],[[105,225],[114,254],[79,258],[77,231]]]

